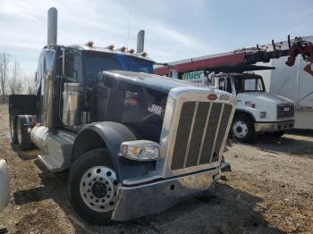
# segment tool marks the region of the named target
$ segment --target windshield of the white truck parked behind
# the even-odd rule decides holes
[[[236,92],[265,92],[265,86],[261,77],[234,77]]]

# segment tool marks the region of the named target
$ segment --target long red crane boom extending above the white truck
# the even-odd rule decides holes
[[[158,75],[169,75],[171,71],[182,73],[200,70],[231,72],[273,69],[271,67],[256,66],[253,64],[258,62],[268,63],[271,59],[288,56],[286,64],[292,66],[299,54],[309,63],[304,70],[313,76],[312,43],[303,38],[291,39],[290,36],[288,36],[287,48],[283,48],[283,42],[275,43],[272,40],[272,44],[266,46],[257,45],[256,47],[242,48],[224,54],[214,54],[166,63],[164,66],[157,67],[155,73]]]

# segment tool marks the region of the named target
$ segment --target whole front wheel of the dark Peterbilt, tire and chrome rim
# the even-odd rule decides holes
[[[106,149],[82,155],[68,178],[68,195],[73,208],[92,223],[107,223],[116,203],[117,180]]]

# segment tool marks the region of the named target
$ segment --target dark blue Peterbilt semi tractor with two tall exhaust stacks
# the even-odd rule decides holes
[[[160,213],[207,193],[221,173],[235,98],[151,74],[154,62],[113,46],[56,44],[56,9],[39,56],[37,95],[10,96],[10,129],[37,146],[49,171],[68,172],[68,196],[94,223]]]

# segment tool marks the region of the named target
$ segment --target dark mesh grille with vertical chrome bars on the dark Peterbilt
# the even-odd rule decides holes
[[[216,162],[232,109],[231,104],[222,103],[182,104],[171,170]]]

